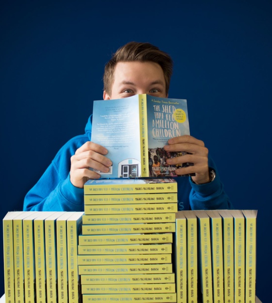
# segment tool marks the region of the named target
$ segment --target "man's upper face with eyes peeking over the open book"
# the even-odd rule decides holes
[[[111,95],[104,92],[103,98],[119,99],[137,94],[168,97],[162,68],[154,62],[118,62]]]

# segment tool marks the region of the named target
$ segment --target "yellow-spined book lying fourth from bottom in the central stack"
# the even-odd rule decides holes
[[[172,273],[172,264],[79,265],[80,275]]]

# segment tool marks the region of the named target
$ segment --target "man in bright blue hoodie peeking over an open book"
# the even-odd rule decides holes
[[[105,100],[136,94],[168,97],[172,59],[150,43],[129,42],[113,55],[105,66]],[[110,102],[110,101],[109,101]],[[90,141],[91,117],[85,134],[69,140],[57,153],[37,184],[28,192],[24,210],[84,209],[83,187],[88,179],[100,175],[89,168],[108,172],[112,165],[107,150]],[[169,165],[194,165],[176,170],[179,175],[195,173],[193,177],[177,178],[179,209],[231,208],[223,190],[215,164],[208,158],[204,142],[192,136],[171,138],[164,147],[167,152],[189,154],[167,160]]]

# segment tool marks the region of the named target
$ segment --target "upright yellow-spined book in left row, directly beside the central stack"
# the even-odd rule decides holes
[[[80,299],[80,276],[78,273],[78,235],[82,229],[83,211],[77,211],[67,219],[67,263],[69,303]]]

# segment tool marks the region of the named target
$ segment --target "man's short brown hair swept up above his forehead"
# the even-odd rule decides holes
[[[131,61],[154,62],[159,64],[163,70],[166,83],[166,94],[168,94],[173,71],[173,61],[170,55],[150,43],[132,41],[121,46],[105,65],[103,89],[108,95],[111,95],[114,71],[117,63]]]

